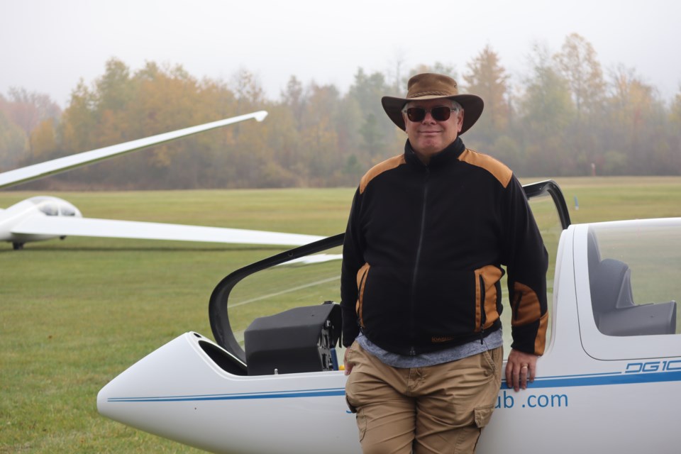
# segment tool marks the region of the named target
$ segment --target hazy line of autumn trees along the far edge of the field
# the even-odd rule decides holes
[[[526,74],[511,74],[486,46],[458,72],[441,63],[368,74],[348,92],[292,75],[279,99],[240,70],[229,81],[197,79],[155,62],[135,72],[106,62],[73,89],[62,111],[26,89],[0,95],[0,170],[113,145],[220,118],[267,110],[248,121],[158,145],[32,183],[53,189],[192,189],[355,186],[371,165],[402,152],[406,135],[382,110],[419,72],[443,72],[485,100],[468,148],[517,175],[681,175],[681,87],[671,100],[636,71],[604,74],[592,45],[572,34],[558,52],[535,45]],[[399,67],[399,65],[397,65]],[[23,186],[24,188],[26,186]]]

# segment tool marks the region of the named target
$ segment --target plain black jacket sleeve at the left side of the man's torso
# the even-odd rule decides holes
[[[364,265],[363,241],[359,224],[362,195],[355,192],[350,209],[348,227],[343,241],[343,265],[341,265],[341,310],[343,314],[343,345],[349,347],[360,332],[357,315],[357,273]]]

